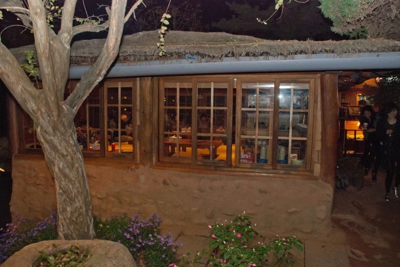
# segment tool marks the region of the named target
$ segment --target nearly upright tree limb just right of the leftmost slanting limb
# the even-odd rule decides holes
[[[52,61],[53,55],[50,50],[50,37],[46,22],[46,10],[40,0],[28,0],[28,3],[33,24],[33,34],[35,36],[37,59],[43,83],[45,108],[53,112],[54,117],[57,118],[59,117],[59,102]]]

